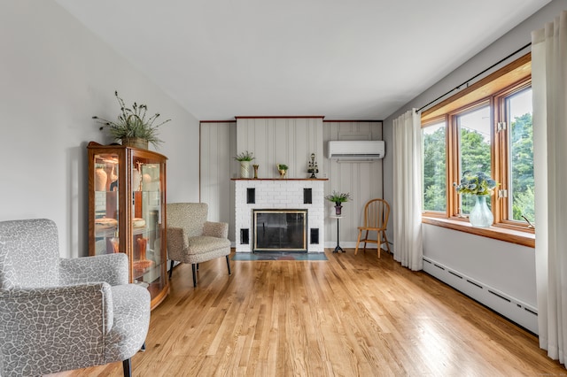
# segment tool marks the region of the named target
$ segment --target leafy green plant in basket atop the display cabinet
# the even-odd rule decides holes
[[[159,144],[162,142],[158,138],[158,128],[171,119],[164,120],[158,125],[154,125],[154,122],[159,118],[158,112],[146,118],[148,106],[145,104],[136,104],[135,102],[130,109],[126,107],[124,100],[118,96],[118,91],[114,91],[114,96],[116,96],[118,104],[120,104],[121,113],[115,121],[106,120],[97,116],[92,117],[92,119],[97,119],[97,122],[103,125],[100,127],[100,130],[107,128],[108,133],[113,136],[114,139],[120,140],[122,145],[128,147],[147,150],[148,142],[151,142],[154,147],[158,148]]]

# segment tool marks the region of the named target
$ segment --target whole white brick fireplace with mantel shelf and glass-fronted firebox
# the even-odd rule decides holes
[[[324,182],[327,179],[234,179],[236,251],[291,250],[298,252],[324,251]],[[263,211],[262,211],[263,210]],[[268,216],[268,213],[274,213]],[[297,213],[305,213],[298,220]],[[262,214],[260,227],[254,228],[254,218]],[[277,216],[276,214],[280,214]],[[288,219],[287,221],[285,219]],[[268,224],[268,219],[271,224]],[[304,221],[304,222],[303,222]],[[305,224],[305,247],[298,247],[299,234],[287,240],[283,232],[299,231],[298,223]],[[288,225],[294,224],[291,227]],[[260,229],[260,230],[259,230]],[[268,246],[258,247],[259,232],[272,232]],[[291,240],[296,240],[291,242]],[[278,243],[279,242],[279,243]]]

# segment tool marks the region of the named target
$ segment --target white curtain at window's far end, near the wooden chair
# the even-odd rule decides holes
[[[393,119],[393,258],[423,268],[422,132],[415,110]]]

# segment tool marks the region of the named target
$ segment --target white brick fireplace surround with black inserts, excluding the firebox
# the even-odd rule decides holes
[[[324,251],[324,183],[326,179],[235,179],[236,251],[252,252],[252,210],[307,209],[307,252]],[[248,188],[254,188],[254,202],[248,202]],[[311,204],[304,204],[304,188],[311,188]],[[250,239],[242,243],[241,229]],[[311,243],[311,229],[318,229],[319,242]]]

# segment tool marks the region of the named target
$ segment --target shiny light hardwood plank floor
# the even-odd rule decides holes
[[[175,267],[135,376],[567,375],[536,336],[383,252]],[[80,352],[80,350],[77,350]],[[58,373],[120,376],[120,363]]]

